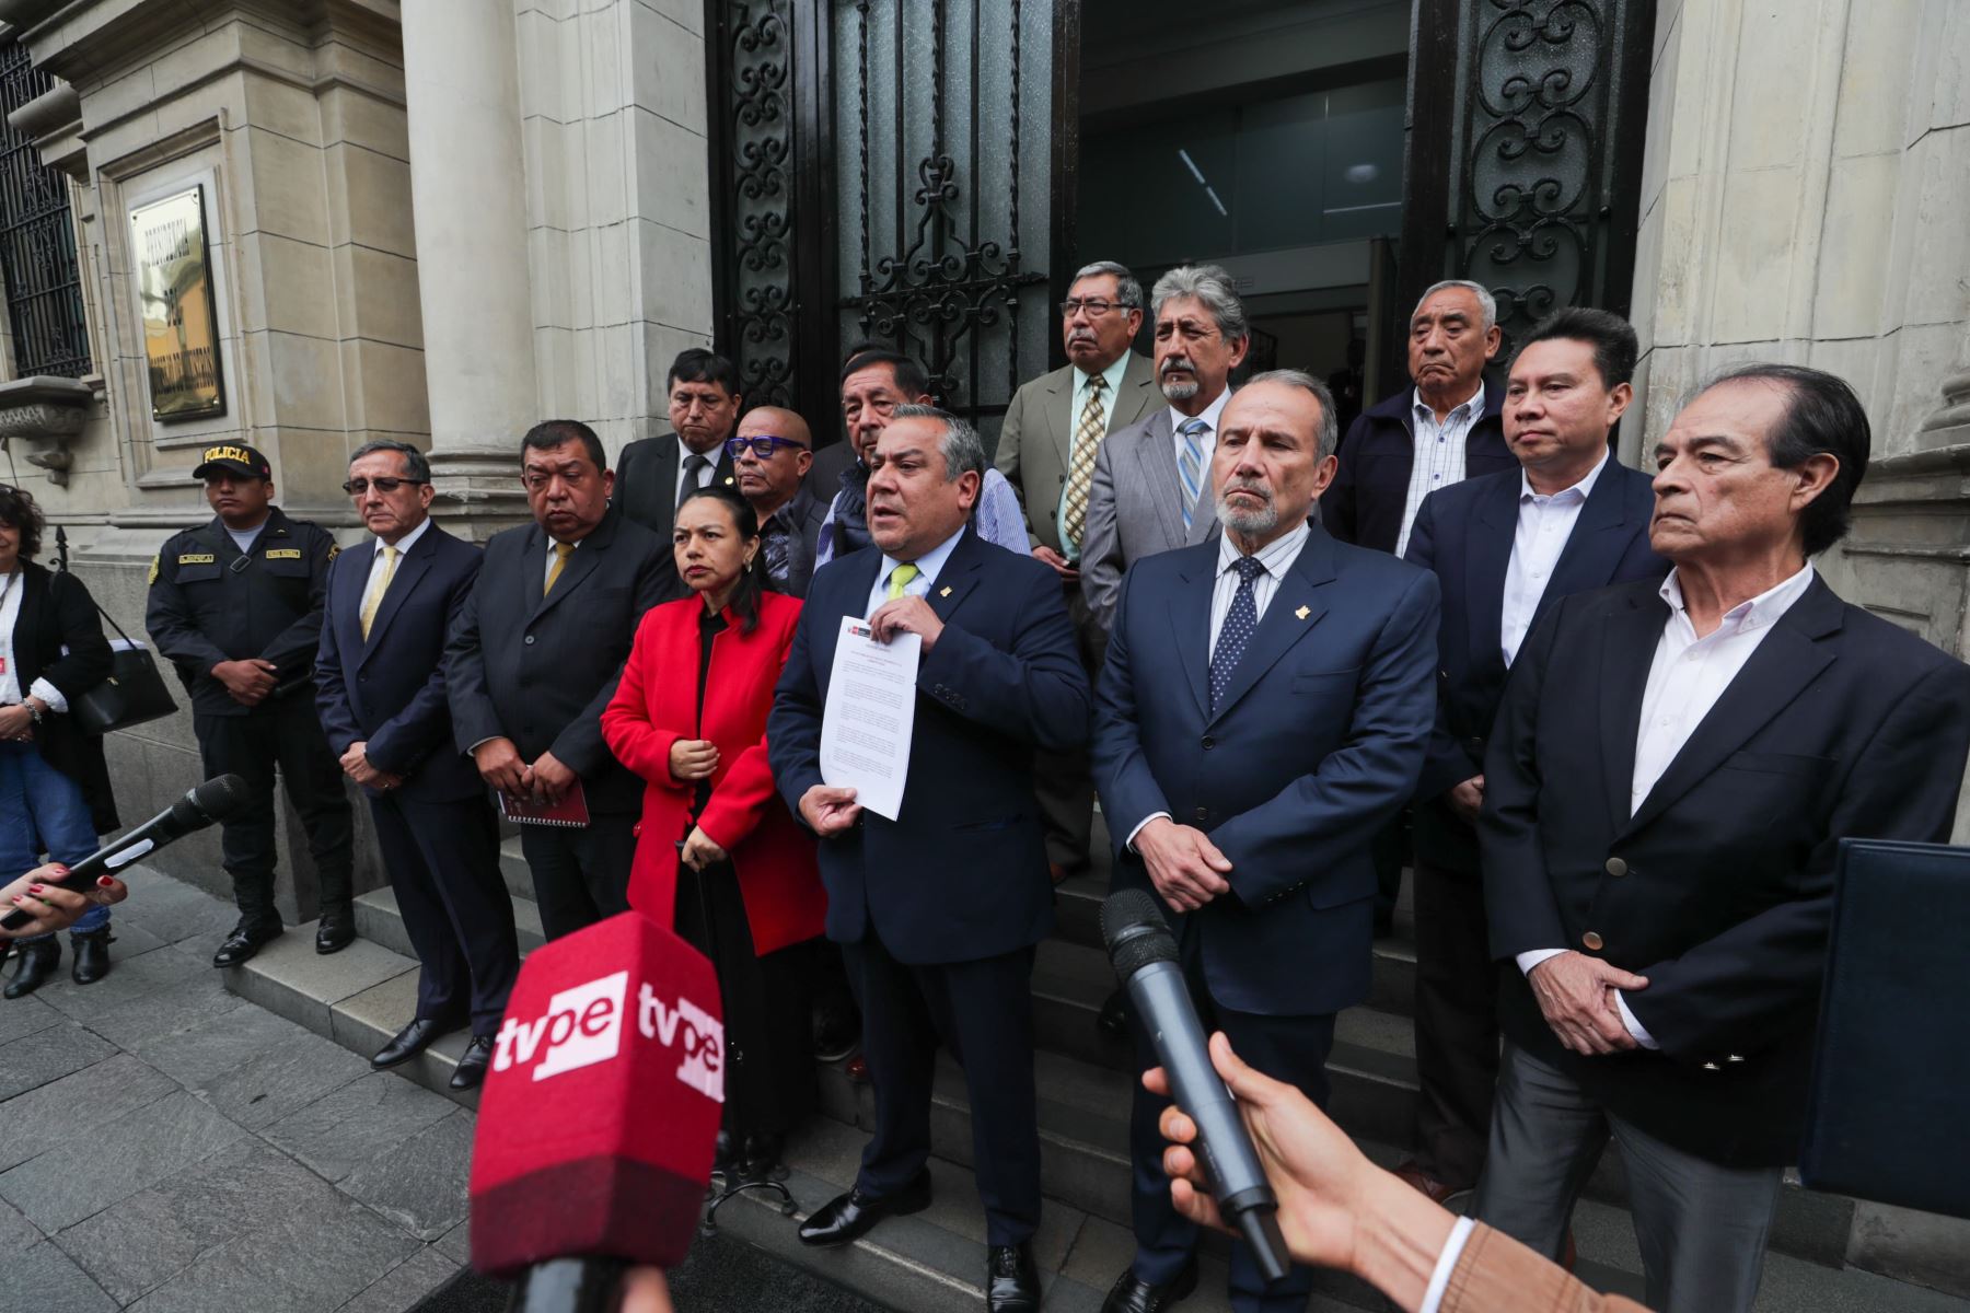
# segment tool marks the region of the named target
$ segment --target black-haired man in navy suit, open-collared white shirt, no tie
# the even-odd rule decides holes
[[[1505,382],[1519,469],[1422,500],[1409,559],[1444,587],[1436,732],[1416,785],[1416,1156],[1397,1175],[1436,1203],[1478,1183],[1497,1085],[1497,967],[1478,870],[1483,750],[1505,669],[1552,602],[1661,579],[1649,547],[1651,478],[1608,437],[1635,392],[1635,329],[1602,309],[1535,327]]]

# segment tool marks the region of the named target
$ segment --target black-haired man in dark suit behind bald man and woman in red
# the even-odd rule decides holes
[[[725,455],[725,439],[733,435],[745,398],[739,396],[739,366],[703,346],[678,352],[664,388],[672,431],[640,437],[623,449],[613,500],[664,543],[668,600],[686,593],[670,559],[670,526],[688,494],[713,482],[731,486],[733,463]]]

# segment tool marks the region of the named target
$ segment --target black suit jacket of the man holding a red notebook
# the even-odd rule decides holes
[[[670,561],[670,543],[611,508],[542,596],[548,533],[494,533],[445,644],[457,750],[506,736],[528,762],[554,752],[579,774],[591,813],[642,811],[642,780],[609,752],[601,715]]]

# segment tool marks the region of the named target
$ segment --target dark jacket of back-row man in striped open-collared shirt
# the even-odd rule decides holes
[[[1369,406],[1347,425],[1340,445],[1340,469],[1320,494],[1320,528],[1344,543],[1395,551],[1403,537],[1403,506],[1409,504],[1409,470],[1416,465],[1416,417],[1411,413],[1414,390]],[[1483,415],[1464,435],[1464,476],[1517,470],[1519,461],[1505,445],[1505,390],[1485,380]]]

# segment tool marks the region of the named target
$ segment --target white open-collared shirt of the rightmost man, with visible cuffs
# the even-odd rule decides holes
[[[1663,581],[1663,600],[1669,602],[1669,622],[1663,636],[1655,640],[1655,659],[1649,663],[1649,683],[1641,693],[1641,726],[1635,732],[1635,774],[1629,778],[1627,813],[1641,811],[1641,803],[1655,789],[1655,782],[1676,760],[1682,746],[1702,724],[1710,709],[1724,697],[1743,663],[1751,659],[1765,634],[1789,612],[1793,604],[1812,587],[1812,563],[1787,579],[1759,593],[1749,602],[1738,602],[1724,612],[1724,622],[1708,638],[1696,636],[1690,612],[1682,604],[1682,583],[1676,571],[1669,571]],[[1531,974],[1548,957],[1558,957],[1568,949],[1529,949],[1519,955],[1519,970]],[[1659,1047],[1647,1028],[1627,1010],[1627,1000],[1615,990],[1621,1008],[1621,1024],[1627,1026],[1637,1043]]]

